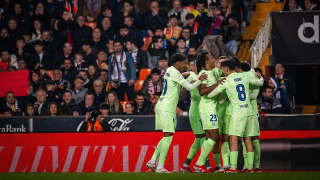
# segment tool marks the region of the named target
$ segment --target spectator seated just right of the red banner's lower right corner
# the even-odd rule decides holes
[[[46,93],[43,89],[38,89],[35,92],[35,102],[33,103],[34,109],[39,115],[47,115],[49,101],[46,100]]]

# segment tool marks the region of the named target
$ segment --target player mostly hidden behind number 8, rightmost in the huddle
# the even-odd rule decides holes
[[[241,62],[241,69],[243,70],[243,73],[246,73],[250,75],[251,77],[255,77],[255,71],[250,67],[250,64],[248,62]],[[260,135],[260,128],[259,128],[259,112],[257,109],[257,102],[256,102],[256,97],[259,93],[259,86],[256,85],[249,85],[249,97],[250,97],[250,103],[252,106],[253,110],[253,120],[252,120],[252,126],[254,127],[249,134],[251,137],[251,142],[252,142],[252,147],[253,147],[253,152],[254,152],[254,172],[261,172],[260,170],[260,143],[259,143],[259,135]],[[243,145],[243,144],[242,144]],[[244,150],[243,150],[244,153]],[[243,156],[246,156],[246,154]],[[243,170],[245,168],[243,167]]]

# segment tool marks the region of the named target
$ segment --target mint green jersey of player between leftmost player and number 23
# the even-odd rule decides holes
[[[194,81],[198,80],[198,75],[196,75],[194,72],[190,72],[190,75],[186,80],[189,83],[193,83]],[[201,96],[199,94],[198,88],[194,88],[190,91],[191,95],[191,103],[190,103],[190,108],[189,108],[189,116],[199,116],[199,103]]]

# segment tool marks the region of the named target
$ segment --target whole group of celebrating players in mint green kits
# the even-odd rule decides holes
[[[184,55],[176,53],[171,59],[173,65],[164,74],[163,91],[155,107],[155,129],[161,129],[163,137],[146,166],[155,172],[169,172],[164,168],[164,161],[175,132],[175,109],[182,86],[191,94],[189,121],[195,139],[180,171],[191,172],[189,163],[201,147],[193,165],[195,172],[240,172],[237,143],[241,140],[244,157],[241,172],[259,172],[256,97],[263,84],[261,74],[237,57],[221,56],[215,60],[208,52],[200,53],[190,62],[191,71],[187,72]],[[214,169],[208,161],[211,151]]]

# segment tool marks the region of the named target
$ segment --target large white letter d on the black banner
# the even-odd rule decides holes
[[[304,36],[306,27],[310,27],[313,29],[313,35],[311,37]],[[311,43],[313,41],[319,42],[319,16],[318,15],[313,16],[313,23],[304,22],[304,18],[303,18],[303,23],[298,28],[298,36],[300,40],[305,43]]]

